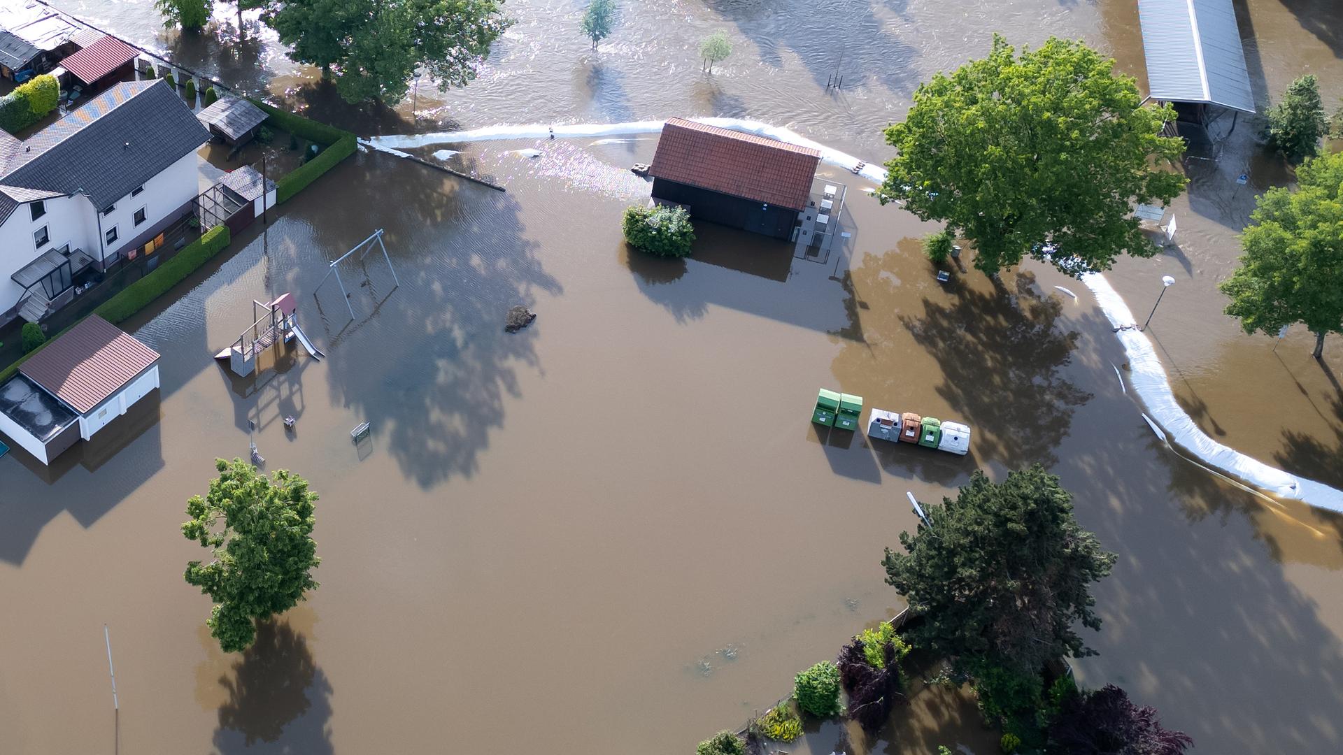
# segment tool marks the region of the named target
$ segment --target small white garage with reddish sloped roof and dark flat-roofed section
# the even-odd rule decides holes
[[[51,463],[154,388],[158,352],[91,314],[0,386],[0,433]]]

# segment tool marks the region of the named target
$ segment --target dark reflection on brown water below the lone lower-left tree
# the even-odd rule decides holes
[[[279,618],[257,625],[257,642],[232,674],[219,678],[228,700],[219,708],[215,752],[334,751],[330,742],[332,685],[313,661],[308,639]]]

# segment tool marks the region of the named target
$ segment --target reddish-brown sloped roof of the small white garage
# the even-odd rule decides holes
[[[90,314],[19,365],[19,372],[89,414],[157,360],[158,352]]]

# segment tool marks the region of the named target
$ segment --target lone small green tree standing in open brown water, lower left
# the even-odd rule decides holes
[[[287,611],[317,588],[317,493],[297,474],[279,470],[267,478],[242,459],[216,459],[215,469],[219,477],[205,496],[187,501],[191,521],[181,525],[215,560],[188,563],[187,583],[215,601],[205,621],[210,634],[235,653],[255,639],[255,619]]]

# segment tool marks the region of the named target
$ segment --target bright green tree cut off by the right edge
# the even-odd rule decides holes
[[[1343,332],[1343,153],[1307,160],[1296,180],[1296,191],[1273,187],[1258,197],[1241,234],[1241,266],[1218,287],[1246,333],[1301,322],[1320,359],[1324,336]]]

